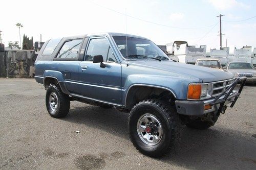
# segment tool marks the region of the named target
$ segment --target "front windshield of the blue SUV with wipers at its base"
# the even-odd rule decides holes
[[[117,47],[124,58],[127,59],[157,59],[157,60],[169,60],[168,56],[152,41],[127,37],[125,36],[113,36]]]

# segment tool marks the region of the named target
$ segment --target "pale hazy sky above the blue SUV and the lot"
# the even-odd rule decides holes
[[[20,34],[34,42],[98,32],[119,32],[151,39],[158,45],[185,40],[190,45],[256,47],[254,0],[72,0],[1,2],[2,42],[19,41]]]

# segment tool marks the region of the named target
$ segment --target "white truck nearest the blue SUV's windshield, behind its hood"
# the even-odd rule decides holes
[[[205,58],[206,54],[206,45],[189,46],[187,41],[174,41],[174,43],[166,44],[166,48],[167,52],[172,55],[170,58],[181,63],[195,64],[197,59]]]

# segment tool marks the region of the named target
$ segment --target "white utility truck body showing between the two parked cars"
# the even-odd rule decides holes
[[[229,47],[224,47],[222,50],[210,49],[210,57],[220,61],[222,66],[228,63]]]

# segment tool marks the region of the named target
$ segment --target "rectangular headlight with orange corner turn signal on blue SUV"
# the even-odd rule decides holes
[[[189,84],[187,91],[187,99],[199,100],[201,97],[211,96],[214,85],[209,84]]]

